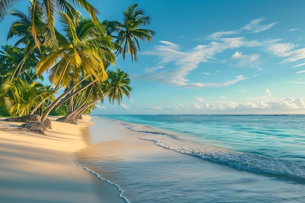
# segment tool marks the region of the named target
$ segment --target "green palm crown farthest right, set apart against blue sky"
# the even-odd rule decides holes
[[[122,54],[125,59],[126,53],[131,55],[132,61],[138,61],[136,55],[140,50],[139,39],[152,41],[155,34],[152,30],[141,28],[150,24],[150,17],[144,16],[144,11],[137,8],[137,4],[129,6],[123,11],[123,23],[118,21],[104,21],[108,26],[108,33],[112,35],[117,32],[115,43],[117,54]]]

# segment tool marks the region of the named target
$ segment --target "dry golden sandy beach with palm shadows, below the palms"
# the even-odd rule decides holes
[[[91,144],[89,116],[78,125],[52,120],[46,135],[0,118],[1,203],[124,203],[117,187],[77,167],[73,153]]]

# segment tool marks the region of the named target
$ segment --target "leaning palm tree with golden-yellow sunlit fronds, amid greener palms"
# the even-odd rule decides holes
[[[67,14],[58,13],[66,36],[62,37],[58,49],[53,49],[38,62],[36,73],[41,75],[48,70],[49,80],[54,83],[56,91],[60,87],[68,87],[71,81],[73,85],[46,109],[42,121],[60,99],[87,78],[92,83],[105,80],[107,74],[104,64],[114,64],[115,60],[115,55],[111,52],[114,49],[112,37],[105,35],[105,28],[101,24],[96,25],[92,20],[84,18],[75,24]]]

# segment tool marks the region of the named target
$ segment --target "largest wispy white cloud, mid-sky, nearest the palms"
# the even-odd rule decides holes
[[[214,55],[223,52],[226,49],[239,47],[245,44],[244,37],[221,39],[221,42],[210,42],[208,45],[197,45],[191,51],[177,51],[178,46],[166,41],[161,41],[163,45],[154,47],[150,52],[143,52],[144,55],[157,55],[161,58],[160,65],[162,69],[153,69],[152,73],[147,75],[137,76],[138,79],[146,79],[157,81],[161,84],[173,86],[188,86],[188,87],[220,87],[221,82],[217,84],[191,82],[186,79],[186,76],[191,71],[197,69],[202,62],[215,60]],[[245,56],[247,57],[247,56]],[[249,55],[248,61],[253,62],[258,55]],[[247,60],[245,59],[245,60]],[[171,62],[171,63],[170,63]],[[170,64],[168,64],[170,63]],[[240,62],[243,65],[245,62]],[[253,63],[252,63],[253,65]],[[163,68],[164,67],[164,68]],[[239,77],[241,79],[241,77]],[[247,78],[243,78],[247,79]]]

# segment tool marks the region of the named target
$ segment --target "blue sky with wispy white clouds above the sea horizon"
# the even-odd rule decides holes
[[[156,32],[139,62],[117,58],[131,98],[99,103],[95,114],[305,113],[304,0],[89,2],[100,20],[121,20],[136,2]]]

